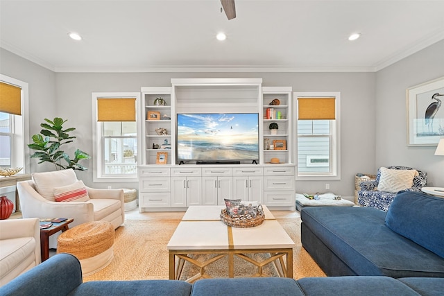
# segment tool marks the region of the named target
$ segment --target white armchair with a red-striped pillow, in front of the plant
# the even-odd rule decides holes
[[[33,180],[17,182],[24,218],[74,218],[69,227],[99,220],[110,222],[114,229],[123,224],[123,189],[89,188],[77,180],[72,169],[32,176]],[[78,196],[73,198],[76,193]],[[49,238],[49,247],[57,247],[60,233]]]

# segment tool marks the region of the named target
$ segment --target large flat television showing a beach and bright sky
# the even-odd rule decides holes
[[[258,113],[177,114],[179,164],[240,164],[259,161]]]

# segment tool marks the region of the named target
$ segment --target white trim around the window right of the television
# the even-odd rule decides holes
[[[296,181],[316,181],[316,180],[341,180],[341,92],[293,92],[293,114],[294,114],[294,155],[293,159],[298,159],[298,98],[307,97],[335,97],[336,120],[332,121],[332,152],[330,161],[332,162],[332,173],[312,173],[298,174],[298,164],[296,164]]]

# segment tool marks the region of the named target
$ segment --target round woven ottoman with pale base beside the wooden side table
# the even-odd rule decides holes
[[[106,221],[77,225],[57,238],[57,252],[76,256],[84,277],[111,263],[114,258],[113,246],[114,227]]]

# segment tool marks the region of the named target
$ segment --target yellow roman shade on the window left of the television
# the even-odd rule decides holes
[[[136,99],[98,98],[97,121],[136,121]]]

